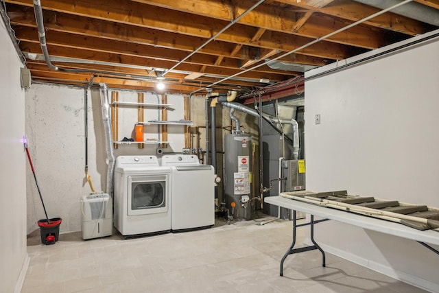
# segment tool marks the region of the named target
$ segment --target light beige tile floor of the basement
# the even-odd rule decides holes
[[[289,255],[279,277],[292,222],[260,220],[127,240],[70,233],[51,246],[37,233],[22,292],[425,292],[330,254],[323,268],[318,250]]]

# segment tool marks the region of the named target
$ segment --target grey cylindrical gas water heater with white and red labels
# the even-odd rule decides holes
[[[226,207],[236,220],[250,220],[252,137],[244,133],[226,134],[224,143]]]

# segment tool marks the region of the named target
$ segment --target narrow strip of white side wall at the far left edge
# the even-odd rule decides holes
[[[1,21],[0,21],[1,22]],[[26,253],[26,155],[23,67],[12,42],[0,24],[0,288],[14,292]],[[24,268],[25,269],[25,268]]]

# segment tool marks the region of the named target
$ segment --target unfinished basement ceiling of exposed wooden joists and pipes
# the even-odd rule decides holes
[[[40,0],[51,62],[85,73],[47,67],[32,0],[6,0],[1,9],[33,81],[157,91],[162,76],[168,93],[249,93],[438,29],[439,0],[415,0],[329,35],[400,2]]]

